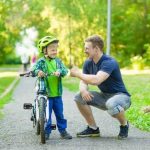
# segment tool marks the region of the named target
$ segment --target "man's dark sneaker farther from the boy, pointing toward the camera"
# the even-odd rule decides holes
[[[118,135],[118,139],[125,139],[128,137],[128,130],[129,130],[129,123],[127,122],[127,125],[120,126],[120,132]]]

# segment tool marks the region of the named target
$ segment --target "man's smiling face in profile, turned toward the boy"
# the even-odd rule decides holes
[[[88,55],[90,59],[93,59],[93,57],[97,54],[95,48],[93,47],[91,42],[85,42],[84,45],[84,52]]]

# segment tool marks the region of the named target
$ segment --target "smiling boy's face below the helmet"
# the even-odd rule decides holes
[[[55,58],[57,55],[58,43],[52,43],[47,46],[47,56],[50,58]],[[46,49],[44,49],[46,50]]]

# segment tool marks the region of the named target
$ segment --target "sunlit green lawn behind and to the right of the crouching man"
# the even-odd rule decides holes
[[[150,75],[124,75],[125,85],[132,95],[132,105],[127,110],[128,120],[145,131],[150,131],[150,113],[144,114],[141,109],[143,106],[150,105]],[[71,91],[79,90],[79,79],[65,77],[63,79],[64,87]],[[91,90],[97,90],[97,87],[90,86]]]

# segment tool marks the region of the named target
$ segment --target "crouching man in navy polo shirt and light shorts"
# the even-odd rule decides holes
[[[77,136],[100,136],[91,105],[107,110],[112,117],[116,118],[120,123],[118,138],[127,138],[129,124],[125,118],[125,110],[131,105],[130,94],[123,83],[118,63],[103,53],[103,47],[104,42],[98,35],[87,38],[85,53],[89,58],[84,62],[83,73],[77,67],[70,70],[72,77],[81,79],[80,92],[75,96],[75,102],[88,123],[88,127],[77,133]],[[88,84],[98,86],[101,92],[88,91]]]

